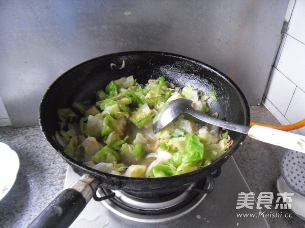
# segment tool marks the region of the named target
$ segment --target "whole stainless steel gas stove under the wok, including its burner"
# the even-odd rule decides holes
[[[125,192],[114,191],[115,198],[101,202],[93,199],[87,204],[82,213],[71,224],[70,228],[112,228],[112,227],[269,227],[261,217],[237,216],[237,214],[259,214],[254,203],[253,209],[246,207],[236,209],[238,194],[249,193],[250,189],[242,177],[233,157],[221,167],[219,177],[214,179],[214,190],[210,193],[198,191],[194,194],[190,186],[185,191],[161,202],[135,199]],[[68,166],[64,188],[68,188],[79,175]],[[212,184],[206,179],[204,185]],[[206,188],[203,186],[203,188]],[[104,196],[111,190],[99,189],[98,194]],[[119,203],[118,203],[119,202]],[[121,207],[121,204],[127,208]],[[178,205],[175,207],[175,205]],[[167,211],[167,208],[174,210]],[[134,208],[129,210],[128,208]],[[166,209],[164,213],[162,210]],[[141,213],[141,211],[146,211]],[[140,211],[140,212],[139,212]],[[148,213],[147,213],[148,211]],[[149,213],[149,211],[159,213]]]

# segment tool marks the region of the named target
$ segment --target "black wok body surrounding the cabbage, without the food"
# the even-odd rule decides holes
[[[121,68],[123,60],[125,67]],[[116,64],[116,67],[111,63]],[[40,106],[40,125],[43,134],[77,174],[89,174],[98,179],[100,185],[105,188],[121,189],[126,192],[154,193],[181,189],[191,183],[202,181],[219,170],[245,139],[246,136],[243,134],[229,132],[234,142],[219,160],[191,173],[164,178],[129,178],[111,175],[88,168],[65,154],[63,148],[53,140],[59,128],[57,109],[72,107],[77,101],[90,99],[94,102],[95,92],[105,89],[111,80],[131,75],[143,84],[151,78],[157,79],[163,76],[175,86],[183,87],[190,84],[207,94],[212,88],[218,97],[218,102],[211,102],[210,113],[218,112],[219,117],[225,117],[230,122],[244,125],[250,123],[249,106],[240,89],[227,76],[203,62],[185,56],[152,51],[123,52],[97,57],[79,64],[57,78],[46,91]],[[63,227],[62,225],[60,227]]]

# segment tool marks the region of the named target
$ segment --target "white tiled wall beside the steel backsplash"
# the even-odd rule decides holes
[[[288,11],[291,9],[291,17],[286,16],[286,19],[290,18],[287,34],[271,72],[263,102],[282,124],[305,118],[305,1],[291,0]],[[297,132],[305,135],[305,127]]]

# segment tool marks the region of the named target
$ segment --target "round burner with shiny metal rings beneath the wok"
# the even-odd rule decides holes
[[[100,188],[97,194],[101,197],[115,192],[114,198],[102,201],[105,207],[115,214],[135,221],[156,222],[171,220],[193,210],[214,187],[211,177],[200,183],[189,185],[173,196],[161,199],[146,199],[132,196],[130,192]]]

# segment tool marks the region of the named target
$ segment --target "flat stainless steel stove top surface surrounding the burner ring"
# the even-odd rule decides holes
[[[68,188],[79,176],[69,166],[65,186]],[[112,228],[112,227],[269,227],[261,217],[238,217],[238,214],[259,214],[256,203],[253,209],[236,209],[238,193],[249,193],[250,189],[243,179],[234,159],[231,157],[223,166],[221,175],[214,179],[215,188],[211,193],[199,195],[188,209],[178,210],[169,215],[138,215],[130,212],[121,213],[111,208],[111,202],[91,200],[70,228]],[[110,206],[109,206],[110,205]],[[109,209],[108,209],[109,208]]]

